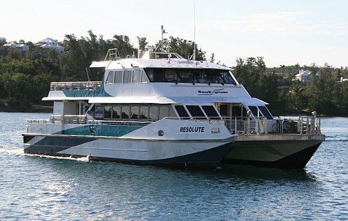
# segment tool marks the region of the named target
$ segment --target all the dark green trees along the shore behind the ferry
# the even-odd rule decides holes
[[[30,41],[20,40],[30,50],[20,51],[0,45],[0,111],[37,111],[48,112],[50,102],[42,102],[48,95],[52,81],[87,81],[85,68],[92,61],[103,60],[109,48],[118,48],[121,57],[136,54],[144,49],[148,42],[145,37],[137,37],[139,47],[130,43],[126,35],[114,35],[111,40],[97,37],[90,30],[88,37],[77,38],[65,35],[61,46],[64,52],[34,46]],[[164,47],[178,52],[183,57],[193,54],[194,42],[170,37],[164,39]],[[158,41],[153,47],[160,44]],[[198,46],[196,45],[196,48]],[[214,53],[208,58],[201,49],[196,50],[196,59],[208,59],[214,62]],[[233,73],[252,97],[258,97],[269,103],[274,115],[284,113],[310,113],[317,111],[321,115],[348,115],[348,67],[334,68],[329,64],[317,66],[280,65],[267,68],[263,57],[238,57]],[[304,84],[294,80],[299,70],[310,70],[311,80]],[[103,70],[88,70],[91,81],[100,81]]]

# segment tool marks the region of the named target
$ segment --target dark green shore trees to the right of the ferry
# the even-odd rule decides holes
[[[347,68],[332,68],[328,64],[318,67],[284,66],[265,68],[263,57],[238,58],[234,75],[252,97],[269,102],[276,112],[317,111],[325,115],[348,115]],[[294,80],[298,70],[310,70],[306,84]]]

